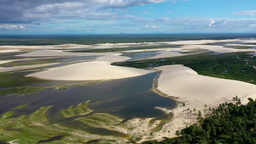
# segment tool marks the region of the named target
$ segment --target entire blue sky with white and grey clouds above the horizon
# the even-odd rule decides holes
[[[0,0],[0,35],[256,33],[256,0]]]

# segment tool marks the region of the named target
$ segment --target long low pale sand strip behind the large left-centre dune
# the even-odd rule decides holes
[[[121,55],[121,53],[113,52],[62,52],[58,50],[37,50],[33,52],[28,52],[16,56],[25,57],[42,57],[42,56],[103,56],[103,55]]]

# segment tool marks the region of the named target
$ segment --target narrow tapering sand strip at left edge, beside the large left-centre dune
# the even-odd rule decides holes
[[[24,69],[36,69],[44,66],[49,65],[56,65],[61,62],[54,62],[54,63],[45,63],[45,64],[39,64],[39,65],[24,65],[24,66],[13,66],[13,67],[0,67],[0,72],[10,72],[10,71],[18,71],[18,70],[24,70]]]

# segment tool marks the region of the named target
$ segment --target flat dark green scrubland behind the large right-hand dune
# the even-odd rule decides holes
[[[256,84],[256,69],[253,67],[256,66],[256,56],[252,57],[248,52],[224,53],[218,55],[204,53],[164,59],[112,63],[112,65],[140,69],[173,64],[187,66],[196,71],[199,75]]]

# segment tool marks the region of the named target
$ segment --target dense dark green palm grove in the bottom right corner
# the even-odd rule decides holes
[[[248,99],[247,105],[238,99],[211,110],[205,118],[198,115],[198,123],[175,132],[178,137],[142,144],[256,144],[256,101]]]

